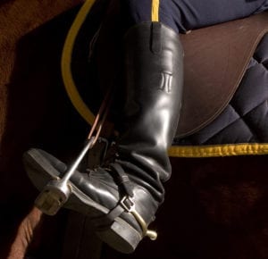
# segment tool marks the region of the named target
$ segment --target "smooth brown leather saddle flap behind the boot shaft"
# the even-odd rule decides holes
[[[181,35],[185,83],[177,137],[203,129],[222,113],[267,32],[265,12]]]

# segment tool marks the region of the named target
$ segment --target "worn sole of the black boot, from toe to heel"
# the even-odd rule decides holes
[[[53,165],[42,153],[44,154],[45,152],[38,149],[30,149],[23,155],[23,163],[29,179],[40,191],[50,180],[58,178],[63,172],[56,170],[55,167],[64,167],[64,164],[56,161],[52,155],[46,154],[52,157]],[[91,219],[104,217],[106,213],[109,213],[109,209],[97,204],[73,185],[71,181],[70,184],[72,192],[68,201],[63,205],[64,208],[85,214]],[[96,230],[96,235],[106,244],[124,254],[134,252],[139,241],[142,239],[137,230],[119,217],[115,218],[112,225],[108,228]]]

